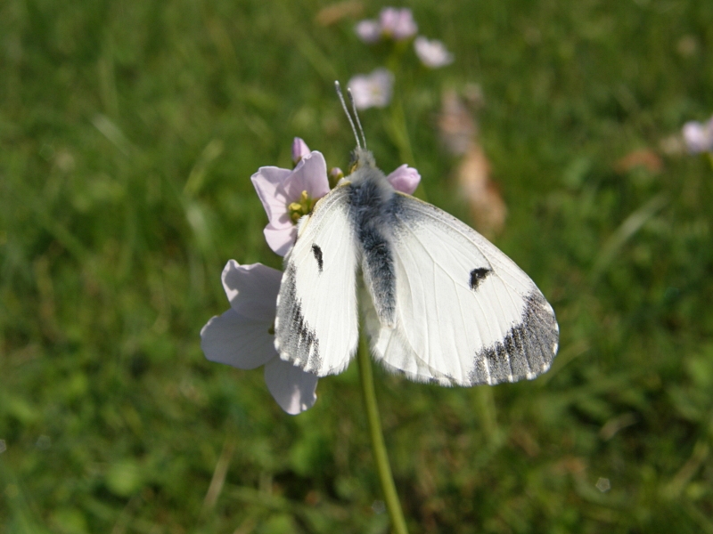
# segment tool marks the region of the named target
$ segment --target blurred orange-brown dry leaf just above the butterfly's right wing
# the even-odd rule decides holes
[[[485,152],[478,144],[471,142],[456,170],[456,177],[471,209],[476,230],[487,237],[503,231],[507,216],[507,206],[489,174],[490,164]]]

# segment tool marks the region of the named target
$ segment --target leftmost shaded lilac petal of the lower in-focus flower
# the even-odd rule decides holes
[[[247,319],[231,308],[201,329],[201,349],[210,361],[240,369],[257,368],[280,360],[275,336],[268,332],[271,326],[272,322]]]

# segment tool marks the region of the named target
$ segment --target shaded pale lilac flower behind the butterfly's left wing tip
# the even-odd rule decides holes
[[[230,260],[223,270],[223,288],[230,309],[201,329],[206,358],[235,368],[265,366],[265,383],[288,414],[296,415],[316,401],[317,377],[280,360],[275,351],[275,303],[282,272],[254,263]]]

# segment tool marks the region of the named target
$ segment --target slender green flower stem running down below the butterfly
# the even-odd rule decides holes
[[[364,336],[359,336],[358,360],[366,419],[369,422],[369,436],[372,439],[373,457],[376,461],[376,470],[379,473],[381,490],[384,493],[384,503],[389,512],[389,519],[391,520],[391,531],[393,534],[408,534],[404,513],[401,510],[401,503],[398,502],[394,477],[391,474],[389,456],[387,455],[386,445],[384,444],[384,435],[381,432],[379,407],[376,405],[376,392],[374,392],[373,389],[372,357],[369,354],[369,347]]]

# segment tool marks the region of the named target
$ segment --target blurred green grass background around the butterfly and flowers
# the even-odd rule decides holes
[[[353,31],[381,4],[328,5],[0,4],[0,532],[388,531],[354,363],[290,417],[200,348],[225,262],[281,266],[250,174],[295,135],[347,165],[332,82],[384,64]],[[407,6],[455,54],[403,56],[407,163],[469,220],[437,114],[479,84],[494,241],[561,326],[533,382],[377,370],[412,531],[713,532],[713,172],[660,149],[713,112],[713,3]],[[362,120],[404,163],[391,110]]]

